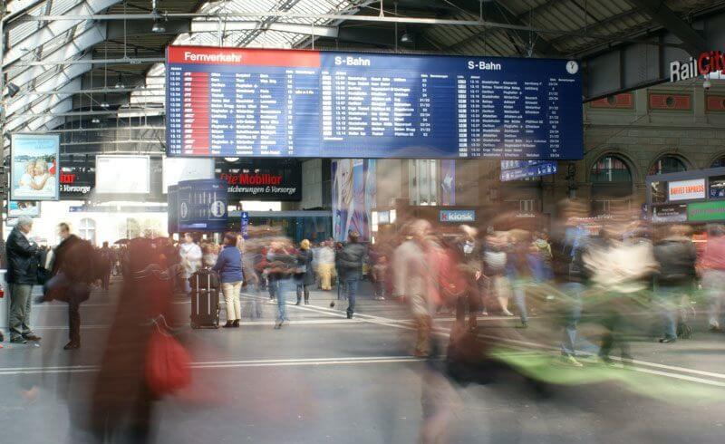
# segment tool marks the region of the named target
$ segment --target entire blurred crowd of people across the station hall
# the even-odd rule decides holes
[[[415,332],[412,353],[445,362],[453,379],[490,378],[481,362],[500,360],[497,351],[525,337],[560,351],[557,359],[566,365],[583,367],[591,360],[631,362],[630,342],[638,335],[663,344],[688,338],[697,328],[698,312],[707,314],[710,330],[722,332],[725,227],[708,227],[706,241],[696,244],[688,226],[626,217],[593,220],[577,215],[571,205],[563,204],[563,217],[551,232],[493,225],[440,232],[427,220],[413,219],[374,244],[350,232],[346,242],[304,239],[294,245],[261,228],[247,238],[227,233],[221,245],[187,233],[179,242],[138,238],[95,248],[60,224],[59,245],[43,248],[29,236],[33,220],[21,217],[5,245],[10,341],[41,341],[30,325],[32,289],[40,284],[43,302],[68,304],[65,348],[79,348],[80,305],[94,285],[107,291],[111,276],[121,275],[121,303],[92,398],[92,429],[107,435],[118,426],[113,420],[118,409],[127,409],[140,415],[131,432],[143,437],[156,395],[139,374],[150,359],[139,345],[150,343],[155,329],[185,323],[173,319],[169,304],[175,293],[197,291],[190,278],[202,272],[218,275],[226,328],[239,326],[242,299],[259,304],[268,298],[276,305],[275,329],[281,329],[289,320],[287,300],[296,296],[296,304],[310,304],[311,291],[333,296],[327,292],[334,285],[352,319],[359,285],[367,279],[368,296],[408,307]],[[453,327],[441,341],[447,330],[440,323],[450,314]],[[517,329],[498,328],[511,326],[510,318]],[[131,381],[131,403],[114,391],[119,375]]]

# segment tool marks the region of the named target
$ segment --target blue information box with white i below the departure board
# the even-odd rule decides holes
[[[177,214],[179,231],[225,231],[227,229],[227,185],[221,180],[179,182]]]

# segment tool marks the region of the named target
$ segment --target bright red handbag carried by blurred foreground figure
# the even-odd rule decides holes
[[[156,395],[169,395],[188,387],[191,383],[189,352],[159,323],[163,316],[153,320],[156,328],[151,333],[146,352],[146,384]]]

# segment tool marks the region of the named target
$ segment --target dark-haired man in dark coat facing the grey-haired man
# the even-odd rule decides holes
[[[81,303],[90,296],[89,284],[101,276],[94,266],[100,259],[90,242],[72,235],[68,224],[58,226],[63,239],[55,247],[53,277],[45,285],[45,301],[57,299],[68,303],[68,335],[70,342],[63,347],[81,347]]]

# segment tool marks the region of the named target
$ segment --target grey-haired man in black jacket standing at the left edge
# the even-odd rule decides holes
[[[20,217],[7,236],[7,283],[10,285],[10,342],[40,341],[30,329],[31,294],[37,283],[40,247],[28,237],[33,219]]]

